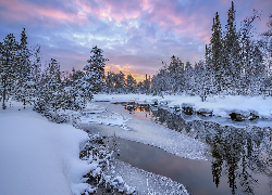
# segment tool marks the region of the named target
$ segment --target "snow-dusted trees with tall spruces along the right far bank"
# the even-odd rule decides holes
[[[194,67],[175,56],[170,65],[163,62],[152,77],[152,93],[200,95],[202,101],[207,95],[272,95],[272,14],[269,30],[256,37],[254,22],[260,14],[255,11],[237,30],[235,12],[232,2],[225,31],[215,13],[205,58]]]

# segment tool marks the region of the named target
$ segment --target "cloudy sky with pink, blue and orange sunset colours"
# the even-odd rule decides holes
[[[97,46],[109,58],[106,72],[153,75],[172,55],[195,64],[203,58],[219,12],[222,29],[231,0],[0,0],[0,40],[26,28],[29,47],[41,46],[42,62],[55,58],[61,70],[82,69]],[[267,30],[271,0],[234,0],[236,25],[254,14]]]

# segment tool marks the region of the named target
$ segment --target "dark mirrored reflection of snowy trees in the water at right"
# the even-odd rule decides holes
[[[270,192],[263,194],[272,194],[271,127],[235,128],[202,120],[187,121],[182,115],[163,108],[154,110],[148,104],[126,104],[125,108],[131,113],[143,112],[144,116],[149,114],[148,119],[208,143],[212,156],[211,173],[217,187],[226,177],[232,194],[237,194],[237,188],[245,194],[256,194],[256,188],[264,183],[270,186]]]

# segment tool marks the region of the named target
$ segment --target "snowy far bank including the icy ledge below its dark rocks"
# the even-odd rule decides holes
[[[164,95],[152,96],[145,94],[96,94],[92,102],[96,101],[110,101],[110,102],[137,102],[137,103],[154,103],[171,108],[174,110],[175,107],[182,109],[182,107],[191,107],[194,113],[208,112],[212,113],[213,117],[201,117],[199,115],[186,116],[187,120],[208,120],[215,121],[223,126],[259,126],[259,127],[271,127],[272,121],[272,96],[213,96],[207,98],[206,102],[201,102],[199,96],[188,95]],[[230,114],[236,113],[246,117],[243,122],[233,122]],[[181,113],[180,113],[181,114]],[[258,116],[258,120],[249,120],[250,115]]]

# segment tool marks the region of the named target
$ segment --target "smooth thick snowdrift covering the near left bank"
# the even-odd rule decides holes
[[[81,194],[83,174],[94,169],[81,160],[88,134],[49,122],[21,103],[0,109],[0,194]]]

